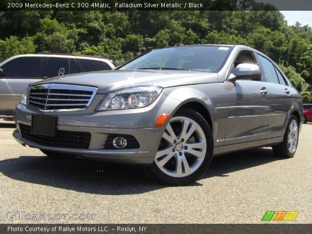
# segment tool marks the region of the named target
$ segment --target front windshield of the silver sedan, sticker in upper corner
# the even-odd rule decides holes
[[[230,51],[225,46],[180,46],[153,50],[120,67],[120,70],[163,69],[216,72]]]

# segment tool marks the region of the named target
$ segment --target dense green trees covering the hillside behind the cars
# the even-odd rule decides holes
[[[2,11],[0,60],[49,51],[99,55],[121,64],[159,47],[245,44],[280,64],[304,101],[312,101],[311,27],[288,26],[267,3],[238,3],[231,5],[233,11]]]

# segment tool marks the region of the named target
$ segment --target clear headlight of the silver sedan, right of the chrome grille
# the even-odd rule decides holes
[[[96,111],[141,108],[150,105],[161,93],[159,86],[137,86],[107,94],[98,103]]]

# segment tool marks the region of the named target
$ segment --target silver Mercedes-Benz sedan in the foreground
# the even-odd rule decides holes
[[[32,84],[14,120],[17,141],[47,156],[142,164],[166,183],[185,184],[216,155],[271,146],[293,157],[302,99],[253,48],[189,45]]]

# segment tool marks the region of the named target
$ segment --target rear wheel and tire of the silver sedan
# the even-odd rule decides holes
[[[281,144],[273,146],[273,153],[277,157],[290,158],[296,153],[299,141],[299,124],[298,119],[292,116],[289,119],[284,135],[284,140]]]

